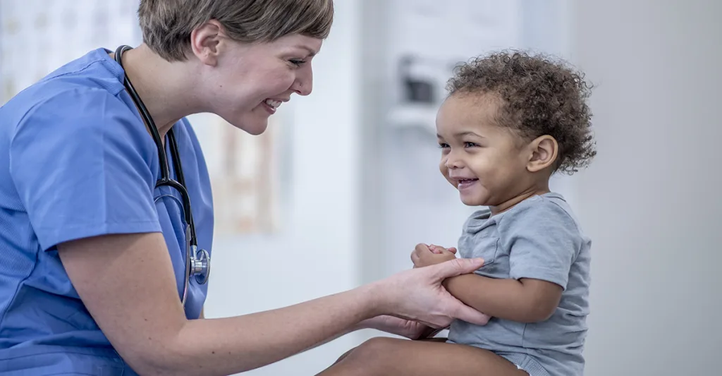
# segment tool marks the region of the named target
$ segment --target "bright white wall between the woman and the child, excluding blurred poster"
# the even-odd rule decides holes
[[[284,307],[358,285],[360,2],[336,2],[331,37],[313,61],[313,93],[281,108],[292,121],[292,129],[284,129],[292,132],[284,230],[274,237],[216,237],[209,318]],[[314,375],[356,338],[244,375]]]

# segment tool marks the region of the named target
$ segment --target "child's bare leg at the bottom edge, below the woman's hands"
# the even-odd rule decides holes
[[[528,376],[497,354],[473,346],[372,338],[317,376]]]

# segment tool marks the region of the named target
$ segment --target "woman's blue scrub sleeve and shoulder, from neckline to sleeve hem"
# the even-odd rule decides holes
[[[0,193],[17,196],[38,245],[155,232],[157,151],[123,92],[123,72],[92,51],[0,109]]]

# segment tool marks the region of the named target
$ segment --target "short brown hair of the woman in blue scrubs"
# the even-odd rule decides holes
[[[271,42],[288,34],[326,39],[333,0],[141,0],[143,42],[168,61],[185,61],[193,29],[211,19],[242,42]]]

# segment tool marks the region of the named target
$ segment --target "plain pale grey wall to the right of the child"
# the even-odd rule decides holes
[[[599,156],[588,376],[720,375],[722,2],[578,1]]]

